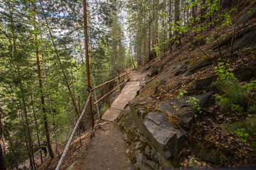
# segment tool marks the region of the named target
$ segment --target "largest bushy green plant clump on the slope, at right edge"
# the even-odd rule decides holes
[[[256,87],[256,81],[252,80],[249,84],[241,86],[233,74],[233,69],[226,68],[229,66],[228,63],[219,62],[218,66],[214,67],[215,74],[218,75],[215,86],[219,91],[215,97],[221,111],[237,113],[247,110],[255,113],[255,96],[252,96],[252,91]]]

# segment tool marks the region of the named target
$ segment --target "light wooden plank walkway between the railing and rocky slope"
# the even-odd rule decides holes
[[[131,101],[137,96],[140,89],[140,81],[130,81],[124,86],[121,94],[112,103],[111,107],[102,115],[102,120],[114,121],[119,116],[119,113],[124,110],[128,101]]]

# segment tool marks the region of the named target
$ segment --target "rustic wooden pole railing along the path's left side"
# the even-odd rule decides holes
[[[125,80],[122,81],[122,83],[121,83],[121,81],[120,81],[121,77],[125,77],[125,76],[127,76],[127,79],[125,79]],[[116,86],[114,89],[112,89],[112,90],[110,91],[109,84],[110,84],[112,81],[116,80],[116,79],[119,79],[119,85]],[[125,73],[125,74],[122,74],[121,76],[118,76],[118,77],[116,77],[116,78],[114,78],[114,79],[112,79],[112,80],[110,80],[110,81],[106,81],[104,84],[100,84],[99,86],[95,86],[95,87],[93,87],[93,88],[91,88],[91,89],[87,89],[88,91],[90,91],[90,93],[89,93],[89,96],[88,96],[87,101],[86,101],[86,103],[85,103],[85,108],[82,110],[82,113],[81,113],[80,117],[78,118],[77,123],[75,124],[75,128],[73,129],[73,131],[72,131],[72,133],[71,133],[71,135],[70,135],[70,138],[69,138],[69,140],[68,140],[68,143],[67,143],[67,145],[65,146],[65,149],[64,149],[64,151],[63,151],[63,154],[62,154],[62,156],[60,157],[60,161],[58,162],[58,165],[57,165],[57,167],[56,167],[55,170],[59,170],[59,169],[60,169],[60,165],[63,163],[64,158],[65,158],[66,154],[68,153],[68,148],[70,147],[70,144],[71,144],[71,142],[72,142],[72,140],[73,140],[73,137],[74,137],[74,135],[75,135],[75,132],[76,132],[76,130],[78,130],[78,126],[79,126],[79,124],[80,124],[80,122],[81,122],[81,120],[82,120],[82,116],[85,114],[85,111],[86,111],[86,108],[87,108],[88,103],[89,103],[89,101],[90,101],[90,98],[92,97],[92,91],[95,91],[96,89],[98,89],[98,88],[100,88],[100,87],[102,87],[102,86],[106,86],[106,93],[107,93],[107,94],[105,94],[104,96],[102,96],[102,98],[100,98],[99,100],[95,101],[95,103],[93,103],[93,104],[95,105],[95,104],[99,103],[100,101],[102,101],[103,98],[107,97],[107,103],[108,103],[108,106],[110,107],[110,106],[111,106],[111,103],[110,103],[110,94],[111,94],[114,90],[116,90],[119,86],[121,86],[122,84],[124,84],[124,82],[129,81],[129,79],[130,79],[129,73]],[[94,121],[94,120],[93,120],[93,121]],[[92,123],[92,124],[94,125],[94,123]],[[92,128],[93,128],[93,127],[92,127]]]

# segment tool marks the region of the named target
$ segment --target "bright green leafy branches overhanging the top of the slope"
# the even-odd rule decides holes
[[[194,33],[193,37],[189,38],[191,41],[197,39],[201,33],[212,27],[217,25],[217,30],[223,28],[224,26],[230,26],[231,24],[231,16],[230,13],[236,11],[237,8],[230,8],[223,13],[219,13],[220,11],[220,0],[215,1],[206,1],[206,3],[202,4],[202,1],[187,1],[186,6],[183,10],[191,10],[191,8],[196,8],[197,6],[201,6],[201,10],[206,11],[205,13],[201,13],[199,16],[191,16],[190,18],[183,18],[181,21],[171,21],[169,26],[166,28],[162,28],[159,32],[168,31],[168,33],[173,34],[171,38],[165,40],[164,44],[175,41],[174,43],[180,43],[178,38],[181,38],[182,35],[191,32]],[[162,13],[162,16],[168,18],[169,16],[166,13]],[[210,21],[210,22],[209,22]],[[186,23],[186,24],[183,24]],[[177,33],[174,35],[174,33]],[[186,38],[186,37],[185,37]],[[207,38],[206,42],[211,42],[213,37]],[[159,48],[161,47],[161,43],[158,44]],[[159,50],[159,49],[158,49]]]

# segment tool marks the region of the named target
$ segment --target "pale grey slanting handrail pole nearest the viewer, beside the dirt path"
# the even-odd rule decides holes
[[[74,137],[74,135],[75,135],[75,131],[78,129],[78,125],[79,125],[80,121],[82,120],[82,116],[85,114],[85,110],[86,110],[86,108],[87,108],[87,106],[88,106],[88,103],[89,103],[89,101],[90,101],[91,96],[92,96],[92,93],[90,93],[90,95],[89,95],[88,98],[87,98],[87,101],[86,101],[86,103],[85,103],[85,108],[82,110],[82,114],[80,115],[80,117],[78,118],[77,123],[75,124],[75,128],[73,129],[73,132],[72,132],[71,135],[70,135],[70,138],[69,138],[69,140],[68,140],[68,143],[67,143],[67,145],[66,145],[66,147],[65,147],[65,149],[64,149],[64,151],[63,151],[63,154],[62,154],[62,156],[61,156],[61,158],[60,158],[60,161],[58,162],[58,166],[56,167],[55,170],[59,170],[59,169],[60,169],[60,165],[62,164],[62,162],[63,162],[63,160],[64,160],[66,154],[68,153],[68,148],[70,147],[70,144],[71,144],[71,142],[72,142],[72,140],[73,140],[73,137]]]

